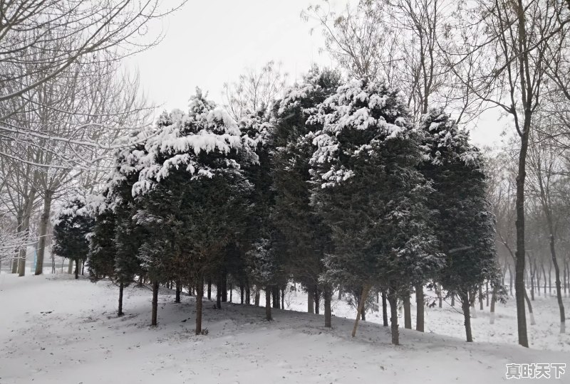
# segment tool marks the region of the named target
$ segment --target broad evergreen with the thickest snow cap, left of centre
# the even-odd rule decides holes
[[[249,139],[199,90],[188,113],[162,114],[139,158],[135,220],[148,234],[140,257],[155,282],[185,266],[197,287],[196,334],[202,332],[204,275],[219,270],[247,216],[250,184],[241,164],[255,160]]]

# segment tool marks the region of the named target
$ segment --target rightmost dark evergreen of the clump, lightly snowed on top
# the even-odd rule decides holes
[[[435,228],[446,259],[438,279],[462,302],[467,341],[473,341],[470,305],[478,287],[490,282],[499,297],[502,292],[483,159],[468,132],[442,110],[430,110],[420,124],[426,151],[420,169],[435,188],[429,206],[438,211]]]

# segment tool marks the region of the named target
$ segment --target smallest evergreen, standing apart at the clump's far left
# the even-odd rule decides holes
[[[87,259],[88,235],[92,229],[93,218],[85,209],[85,201],[81,197],[70,201],[56,217],[52,252],[76,263],[76,279],[79,277],[79,262]]]

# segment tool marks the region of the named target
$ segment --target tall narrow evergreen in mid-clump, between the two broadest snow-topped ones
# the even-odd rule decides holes
[[[311,206],[309,160],[314,146],[304,137],[322,128],[307,124],[317,105],[332,95],[341,84],[341,76],[333,70],[311,68],[303,82],[287,90],[276,105],[276,124],[271,132],[273,188],[276,202],[272,220],[280,228],[280,249],[288,255],[286,268],[296,281],[306,287],[309,300],[323,293],[325,326],[331,326],[331,282],[320,279],[324,271],[323,257],[331,249],[328,227]]]

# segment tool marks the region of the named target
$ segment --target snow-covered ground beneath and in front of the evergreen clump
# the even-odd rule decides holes
[[[392,346],[389,329],[371,314],[373,321],[361,323],[351,338],[353,321],[341,317],[349,314],[341,302],[334,304],[333,329],[323,327],[322,316],[303,312],[274,310],[268,323],[261,307],[225,304],[216,310],[206,303],[209,333],[195,336],[194,299],[184,296],[174,304],[172,292],[160,293],[159,325],[152,328],[148,289],[126,289],[126,315],[118,318],[117,289],[108,282],[0,274],[0,383],[490,384],[507,380],[507,363],[570,363],[566,351],[514,343],[512,303],[497,308],[494,326],[486,325],[488,314],[474,320],[480,342],[463,341],[453,309],[435,308],[427,309],[427,333],[402,330],[403,345]],[[305,299],[300,292],[288,298],[300,309]],[[534,346],[548,347],[539,341],[547,338],[559,340],[552,348],[567,349],[568,339],[556,335],[556,312],[546,313],[555,309],[554,300],[534,303]],[[570,373],[532,382],[551,380],[570,383]]]

